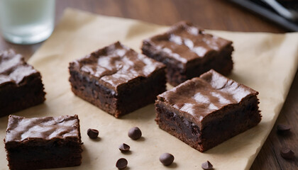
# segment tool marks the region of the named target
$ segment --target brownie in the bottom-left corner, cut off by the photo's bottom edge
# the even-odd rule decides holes
[[[77,115],[43,118],[9,115],[4,144],[9,169],[50,169],[82,163]]]

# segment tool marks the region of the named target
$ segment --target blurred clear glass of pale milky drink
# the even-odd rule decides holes
[[[55,0],[0,0],[0,30],[16,44],[46,40],[54,30]]]

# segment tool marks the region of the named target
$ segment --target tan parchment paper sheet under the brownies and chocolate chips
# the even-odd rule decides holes
[[[57,115],[79,115],[84,152],[82,165],[68,169],[116,169],[117,159],[128,160],[128,169],[202,169],[209,160],[215,169],[249,169],[285,101],[298,64],[298,33],[231,33],[211,31],[233,40],[234,69],[230,76],[260,92],[261,123],[221,145],[201,153],[156,125],[153,104],[140,108],[121,119],[104,113],[78,98],[70,90],[68,63],[116,40],[140,52],[141,41],[165,26],[131,19],[97,16],[67,9],[53,35],[29,60],[43,76],[44,104],[15,113],[28,118]],[[169,87],[170,88],[170,87]],[[0,118],[0,138],[4,139],[7,116]],[[140,140],[127,136],[130,128],[138,126],[143,132]],[[88,128],[99,130],[99,140],[90,140]],[[121,154],[118,145],[131,146],[130,154]],[[160,154],[170,152],[175,164],[162,166]],[[4,143],[0,142],[1,169],[6,166]]]

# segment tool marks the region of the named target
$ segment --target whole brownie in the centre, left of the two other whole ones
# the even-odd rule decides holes
[[[118,118],[165,91],[165,65],[116,42],[70,63],[75,95]]]

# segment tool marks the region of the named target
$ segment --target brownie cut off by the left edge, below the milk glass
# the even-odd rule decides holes
[[[0,52],[0,116],[45,101],[40,72],[13,50]]]

